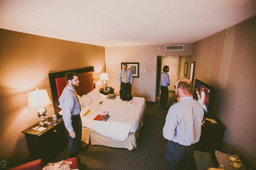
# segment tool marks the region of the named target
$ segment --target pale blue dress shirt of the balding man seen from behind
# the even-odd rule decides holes
[[[169,141],[190,146],[199,141],[204,111],[193,97],[181,97],[167,113],[163,135]]]

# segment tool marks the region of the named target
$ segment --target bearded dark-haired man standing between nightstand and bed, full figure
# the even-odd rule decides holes
[[[66,87],[62,95],[59,97],[60,107],[62,108],[62,118],[66,129],[69,131],[69,157],[78,158],[79,169],[86,169],[85,164],[80,163],[78,157],[79,151],[85,151],[88,146],[82,147],[82,122],[80,117],[81,107],[75,91],[75,87],[79,86],[78,73],[69,72],[65,75]]]

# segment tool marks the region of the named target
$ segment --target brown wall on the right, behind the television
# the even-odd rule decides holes
[[[193,43],[194,78],[215,89],[223,150],[256,166],[256,16]],[[184,70],[183,70],[184,71]]]

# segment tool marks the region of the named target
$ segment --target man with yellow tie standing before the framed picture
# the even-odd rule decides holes
[[[127,64],[123,64],[123,69],[118,76],[120,89],[129,91],[132,94],[132,72],[127,69]]]

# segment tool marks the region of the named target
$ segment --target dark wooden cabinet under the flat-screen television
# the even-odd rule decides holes
[[[222,151],[225,128],[217,118],[211,117],[210,119],[216,120],[217,124],[205,120],[202,125],[200,140],[195,144],[195,151],[207,153],[214,153],[215,150]]]

